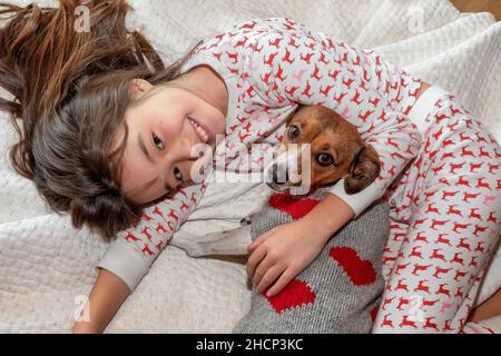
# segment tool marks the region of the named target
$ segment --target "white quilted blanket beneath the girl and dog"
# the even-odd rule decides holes
[[[18,1],[22,3],[31,1]],[[39,1],[52,3],[53,1]],[[131,0],[140,26],[167,62],[238,21],[288,17],[387,59],[454,92],[501,140],[501,23],[460,13],[448,0]],[[71,228],[13,174],[12,129],[0,113],[0,333],[68,333],[90,291],[107,244]],[[208,188],[183,229],[234,227],[266,196],[262,186]],[[481,300],[501,284],[500,258]],[[498,275],[495,275],[498,274]],[[227,333],[248,310],[245,268],[190,258],[168,246],[109,325],[109,333]]]

